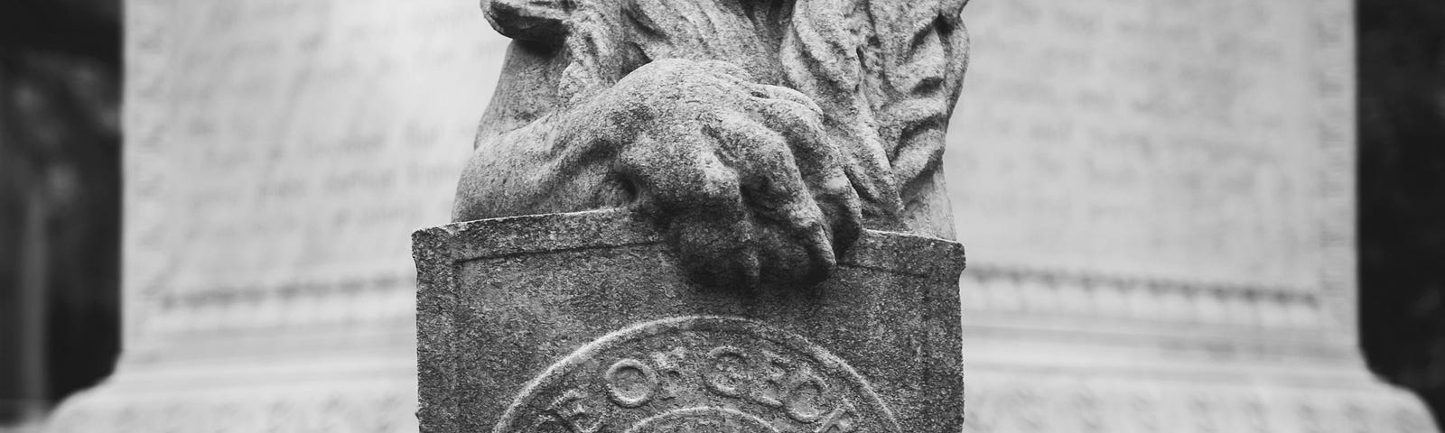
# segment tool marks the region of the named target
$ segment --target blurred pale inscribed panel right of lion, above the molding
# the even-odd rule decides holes
[[[948,167],[959,238],[988,253],[980,266],[1345,296],[1347,1],[968,13],[974,62]]]

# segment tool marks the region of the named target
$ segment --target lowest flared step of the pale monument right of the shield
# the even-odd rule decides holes
[[[1123,374],[971,362],[964,432],[1436,432],[1418,397],[1360,371],[1222,368]]]

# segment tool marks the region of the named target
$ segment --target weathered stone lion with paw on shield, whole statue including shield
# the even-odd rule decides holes
[[[517,42],[471,222],[415,240],[422,429],[957,432],[962,253],[899,232],[952,235],[965,3],[483,1]]]

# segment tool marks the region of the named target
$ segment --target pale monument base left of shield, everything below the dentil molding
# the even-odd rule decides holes
[[[416,432],[409,331],[387,319],[153,335],[66,398],[48,432]]]

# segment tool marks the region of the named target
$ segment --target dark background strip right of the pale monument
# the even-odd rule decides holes
[[[1360,333],[1445,427],[1445,1],[1355,1]]]

